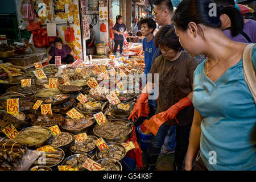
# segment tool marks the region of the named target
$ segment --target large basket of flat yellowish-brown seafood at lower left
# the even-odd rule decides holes
[[[15,142],[27,144],[28,147],[35,146],[37,144],[43,144],[52,135],[52,131],[47,127],[32,126],[22,131],[13,139]]]

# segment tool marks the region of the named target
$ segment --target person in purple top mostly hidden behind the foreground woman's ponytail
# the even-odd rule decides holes
[[[236,7],[234,0],[214,0],[214,2],[218,6],[233,6]],[[239,9],[239,7],[238,7]],[[231,22],[229,16],[223,14],[220,16],[222,25],[221,29],[224,31],[224,34],[228,36],[228,38],[232,39],[236,42],[244,42],[244,43],[256,43],[256,22],[251,19],[243,19],[243,29],[237,35],[232,35],[232,31],[230,30]]]

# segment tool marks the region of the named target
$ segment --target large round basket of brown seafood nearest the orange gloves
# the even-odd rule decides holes
[[[112,121],[96,125],[93,131],[102,138],[118,138],[129,134],[132,129],[131,126],[130,122]]]

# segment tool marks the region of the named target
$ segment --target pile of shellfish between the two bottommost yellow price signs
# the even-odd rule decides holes
[[[85,167],[83,165],[88,158],[90,158],[90,157],[86,153],[75,154],[75,155],[71,156],[70,160],[63,162],[63,166],[67,165],[67,166],[77,167],[79,169],[79,171],[82,171],[85,169]]]

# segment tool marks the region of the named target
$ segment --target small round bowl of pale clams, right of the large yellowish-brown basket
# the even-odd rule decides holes
[[[61,132],[60,134],[49,139],[49,144],[53,147],[62,147],[74,140],[74,136],[71,133]]]

